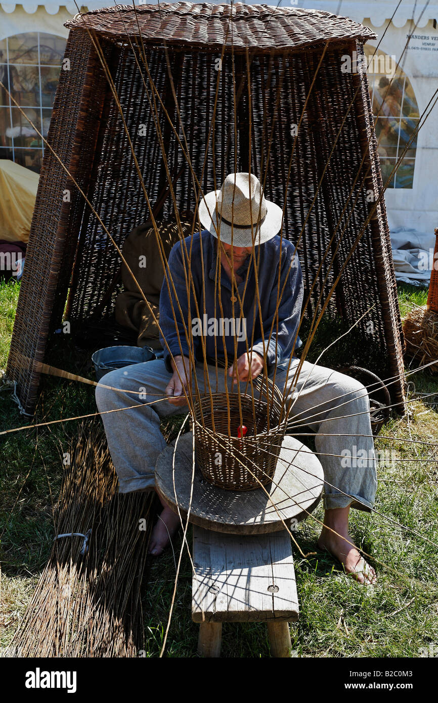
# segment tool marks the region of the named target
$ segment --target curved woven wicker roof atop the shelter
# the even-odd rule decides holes
[[[93,28],[108,39],[127,33],[148,44],[218,49],[224,44],[237,51],[293,51],[325,41],[361,42],[375,39],[371,30],[329,12],[243,3],[161,3],[102,8],[75,15],[65,27]]]

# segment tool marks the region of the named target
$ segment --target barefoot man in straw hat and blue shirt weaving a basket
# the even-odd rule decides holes
[[[316,432],[326,481],[318,546],[361,583],[375,583],[374,569],[350,544],[348,533],[349,509],[369,512],[377,487],[368,393],[349,376],[308,361],[294,380],[303,283],[294,245],[278,235],[282,215],[278,205],[264,198],[252,174],[230,174],[219,191],[205,195],[199,205],[205,230],[176,243],[169,255],[173,285],[169,277],[160,295],[165,358],[105,375],[96,387],[96,402],[105,413],[101,417],[120,492],[153,490],[155,462],[166,446],[160,419],[186,404],[195,379],[202,392],[209,392],[207,377],[212,392],[232,391],[238,382],[245,392],[250,378],[275,374],[290,417]],[[218,315],[235,321],[227,333],[217,323]],[[191,327],[195,319],[197,325],[200,319],[207,323],[202,325],[205,336]],[[189,327],[193,336],[187,340]],[[218,368],[221,361],[227,368]],[[129,409],[106,412],[122,408]],[[345,450],[352,456],[354,446],[356,456],[372,457],[365,466],[345,466]],[[179,517],[163,503],[151,554],[162,553],[178,525]]]

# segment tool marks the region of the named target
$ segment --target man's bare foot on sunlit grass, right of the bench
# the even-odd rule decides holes
[[[347,510],[347,515],[344,514],[345,510]],[[328,527],[342,536],[337,536],[330,529],[327,529]],[[340,560],[341,564],[344,565],[345,572],[351,574],[356,581],[365,586],[375,586],[377,574],[363,558],[358,548],[352,545],[353,540],[348,533],[348,509],[326,510],[318,547],[328,550],[330,554]]]

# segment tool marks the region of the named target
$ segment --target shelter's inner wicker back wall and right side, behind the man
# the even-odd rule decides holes
[[[397,287],[392,272],[389,232],[383,205],[379,216],[373,217],[366,224],[373,205],[367,201],[367,193],[373,188],[377,199],[382,192],[381,180],[377,180],[380,175],[378,156],[372,143],[368,146],[371,117],[367,122],[363,118],[364,110],[371,109],[367,102],[367,85],[356,96],[356,108],[350,110],[344,120],[349,104],[354,99],[356,83],[354,77],[340,74],[342,51],[344,49],[332,50],[326,54],[326,61],[321,66],[310,93],[308,109],[304,112],[293,151],[288,187],[288,164],[295,138],[291,135],[291,125],[299,122],[318,65],[318,56],[311,53],[288,58],[261,55],[252,59],[251,170],[262,181],[266,179],[265,192],[270,200],[282,205],[286,194],[283,236],[297,242],[300,231],[304,230],[299,243],[299,258],[306,297],[314,285],[307,317],[314,313],[316,307],[321,307],[321,304],[316,305],[318,297],[321,295],[323,302],[340,275],[328,314],[337,312],[353,323],[374,306],[370,316],[363,317],[359,322],[354,334],[363,336],[363,366],[368,366],[368,354],[373,349],[378,350],[375,353],[380,354],[381,363],[375,370],[381,378],[387,378],[399,374],[401,369]],[[217,71],[214,68],[217,57],[198,52],[185,53],[183,56],[181,53],[169,55],[179,101],[179,118],[167,79],[165,57],[155,49],[148,49],[146,56],[162,105],[165,105],[172,123],[179,124],[181,118],[179,138],[183,132],[188,136],[191,164],[201,181],[203,191],[218,187],[224,176],[234,170],[235,159],[238,170],[246,171],[250,119],[245,60],[236,58],[233,68],[231,56],[224,57],[213,143],[211,136],[209,142],[208,126],[212,120],[212,103],[217,85]],[[238,101],[237,148],[233,124],[233,72],[236,76]],[[153,203],[160,197],[162,188],[167,187],[167,176],[152,113],[149,110],[145,112],[147,98],[143,81],[140,77],[136,78],[136,64],[130,49],[121,50],[115,85],[125,108],[124,114],[143,181]],[[180,211],[193,211],[197,195],[193,191],[191,175],[179,141],[169,127],[162,105],[157,105],[158,115],[172,177],[176,177],[182,169],[176,181],[176,202]],[[146,125],[146,136],[140,138],[138,126],[142,122]],[[324,167],[339,130],[340,137],[324,175]],[[206,150],[207,162],[204,167]],[[153,168],[150,167],[151,164],[154,165]],[[358,172],[359,179],[354,184]],[[366,172],[368,176],[362,185]],[[109,106],[108,122],[102,127],[94,179],[94,207],[103,221],[110,223],[112,236],[122,245],[130,229],[148,219],[148,210],[122,129],[120,113],[113,103]],[[309,214],[321,179],[321,188]],[[174,218],[171,198],[165,202],[162,217]],[[339,226],[338,219],[341,219]],[[328,257],[324,259],[323,254],[333,233],[333,245]],[[356,249],[349,257],[354,245]],[[117,252],[91,213],[86,215],[82,224],[80,246],[82,265],[77,271],[77,280],[71,292],[71,318],[75,321],[94,316],[99,300],[105,295],[114,271],[120,265]],[[334,265],[330,267],[332,259]],[[112,314],[115,295],[117,290],[103,314]],[[385,310],[382,309],[383,305]],[[370,318],[373,321],[372,336],[366,332]],[[395,392],[394,401],[400,398],[397,387],[400,387],[397,383],[391,387]]]

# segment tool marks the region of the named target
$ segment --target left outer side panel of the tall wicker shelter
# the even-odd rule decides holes
[[[107,60],[112,50],[112,44],[105,47]],[[70,69],[60,72],[47,141],[86,193],[107,81],[88,34],[70,32],[65,58]],[[85,206],[75,183],[46,147],[6,371],[30,415],[40,375],[34,361],[44,361],[49,334],[61,321]]]

